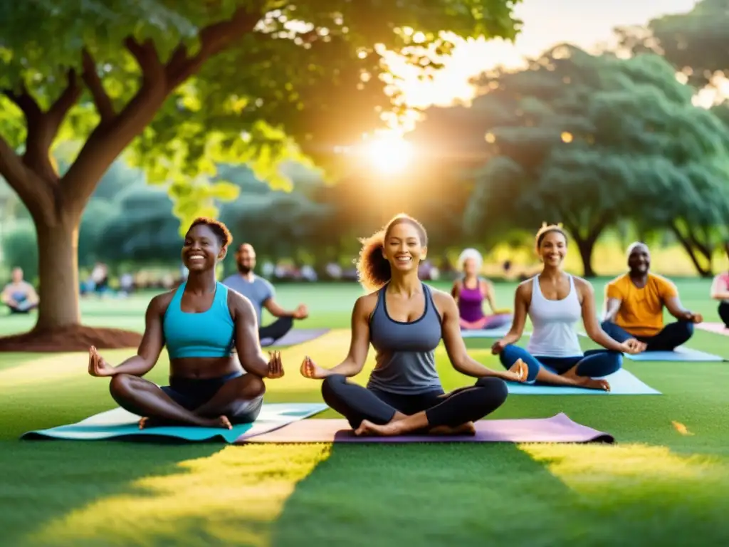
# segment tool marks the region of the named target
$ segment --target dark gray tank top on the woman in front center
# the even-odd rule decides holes
[[[413,322],[391,319],[385,291],[378,291],[370,317],[370,342],[375,348],[375,370],[367,387],[398,395],[416,395],[443,390],[435,371],[435,349],[443,334],[441,319],[430,288],[423,284],[425,311]]]

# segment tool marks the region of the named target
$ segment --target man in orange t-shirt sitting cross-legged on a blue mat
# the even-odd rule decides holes
[[[649,270],[647,245],[628,247],[628,273],[605,287],[602,328],[618,342],[635,338],[647,344],[647,352],[671,352],[691,338],[694,323],[703,318],[681,305],[676,285]],[[664,307],[678,319],[676,322],[663,325]]]

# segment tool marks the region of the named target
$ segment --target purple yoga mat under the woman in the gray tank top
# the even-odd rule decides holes
[[[541,419],[479,420],[475,435],[358,437],[344,419],[313,419],[257,435],[248,443],[614,443],[608,433],[572,422],[566,414]],[[241,441],[238,441],[241,442]]]

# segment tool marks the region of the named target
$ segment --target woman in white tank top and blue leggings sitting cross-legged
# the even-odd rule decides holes
[[[600,327],[592,285],[562,271],[567,236],[558,225],[543,225],[537,232],[537,254],[542,273],[516,290],[514,321],[509,333],[491,348],[505,368],[529,368],[527,382],[587,387],[609,391],[604,376],[623,365],[623,353],[635,354],[645,344],[635,339],[620,344]],[[526,349],[514,344],[521,338],[529,315],[533,326]],[[582,318],[585,331],[606,349],[582,352],[575,325]]]

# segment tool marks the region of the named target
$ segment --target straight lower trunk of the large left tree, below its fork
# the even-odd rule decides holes
[[[40,278],[35,330],[79,325],[79,222],[36,225]]]

